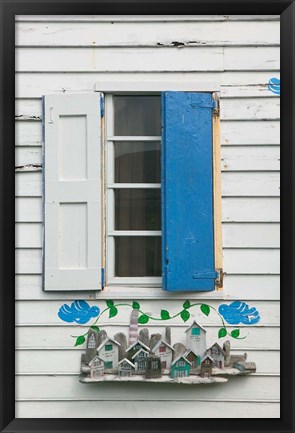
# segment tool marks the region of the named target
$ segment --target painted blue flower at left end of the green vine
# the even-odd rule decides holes
[[[62,305],[58,311],[58,317],[64,322],[76,322],[83,325],[92,317],[97,317],[99,312],[98,307],[90,307],[86,301],[74,301],[71,306]]]

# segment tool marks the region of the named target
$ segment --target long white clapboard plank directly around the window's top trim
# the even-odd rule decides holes
[[[233,97],[267,97],[276,98],[268,89],[269,79],[280,77],[278,70],[274,71],[235,71],[235,72],[137,72],[139,82],[194,82],[217,83],[221,86],[222,98]],[[134,73],[130,72],[82,72],[58,73],[42,72],[33,74],[16,73],[16,96],[18,98],[40,98],[41,95],[65,92],[92,92],[94,83],[124,81],[134,83]]]

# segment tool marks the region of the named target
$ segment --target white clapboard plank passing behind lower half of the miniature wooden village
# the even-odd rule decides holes
[[[48,357],[47,350],[18,350],[15,372],[21,374],[79,374],[83,350],[54,350]],[[240,351],[232,351],[232,354]],[[257,374],[272,374],[280,371],[279,351],[254,350],[248,354],[254,360]]]

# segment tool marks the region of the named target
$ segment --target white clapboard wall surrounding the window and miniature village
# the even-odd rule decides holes
[[[279,417],[280,106],[268,89],[279,78],[279,42],[279,17],[267,15],[16,17],[17,417]],[[247,351],[257,363],[256,374],[198,387],[79,383],[83,347],[74,348],[71,335],[81,329],[58,319],[63,303],[137,299],[157,315],[164,305],[180,311],[187,298],[159,289],[41,289],[41,97],[89,93],[104,80],[220,84],[224,291],[189,299],[216,308],[243,300],[259,310],[261,321],[232,341],[234,353]],[[105,322],[109,335],[127,332],[129,314],[122,307]],[[208,344],[215,342],[217,316],[201,319]],[[185,324],[175,319],[171,328],[173,340],[183,338]]]

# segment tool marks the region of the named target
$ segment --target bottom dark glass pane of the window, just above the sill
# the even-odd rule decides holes
[[[161,276],[161,237],[115,237],[117,277]]]

